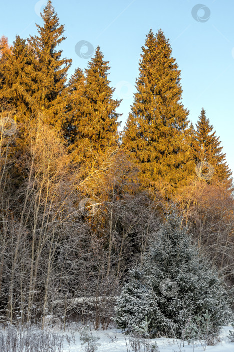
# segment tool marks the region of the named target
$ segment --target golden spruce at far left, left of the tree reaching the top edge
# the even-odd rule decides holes
[[[25,146],[29,143],[27,126],[33,119],[36,102],[32,95],[35,89],[33,82],[33,53],[26,40],[16,36],[13,45],[5,50],[0,59],[0,101],[11,106],[17,123],[14,136],[11,137],[11,152],[15,156],[15,180],[21,180],[19,169],[22,171],[21,157]],[[22,172],[20,172],[22,173]]]

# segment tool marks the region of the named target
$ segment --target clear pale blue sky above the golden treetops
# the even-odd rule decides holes
[[[220,136],[229,167],[234,171],[234,1],[201,0],[203,8],[193,10],[197,0],[54,0],[53,6],[65,25],[63,56],[72,58],[70,74],[76,67],[87,67],[87,58],[75,52],[80,41],[95,48],[100,45],[109,65],[114,98],[123,99],[118,112],[124,127],[135,92],[135,78],[141,46],[150,28],[161,28],[169,38],[172,55],[181,70],[183,104],[189,119],[196,123],[203,107]],[[9,43],[16,34],[27,38],[36,34],[35,23],[46,1],[11,0],[1,3],[0,36]],[[208,9],[207,9],[208,8]],[[203,17],[203,22],[202,21]],[[81,52],[85,53],[87,47]]]

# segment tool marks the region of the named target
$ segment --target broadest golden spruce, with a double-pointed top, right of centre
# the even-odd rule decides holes
[[[150,30],[142,47],[137,93],[123,135],[146,187],[170,197],[194,173],[188,112],[181,103],[180,70],[169,40]]]

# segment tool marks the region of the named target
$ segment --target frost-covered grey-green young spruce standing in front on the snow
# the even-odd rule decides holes
[[[115,308],[119,328],[134,330],[147,316],[151,337],[204,338],[231,318],[222,279],[181,222],[174,210],[168,214],[142,265],[130,271]]]

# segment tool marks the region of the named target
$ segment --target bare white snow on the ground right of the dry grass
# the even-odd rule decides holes
[[[223,330],[220,334],[221,342],[219,342],[215,346],[201,346],[201,343],[197,342],[194,345],[188,345],[187,342],[184,343],[184,347],[180,340],[175,340],[172,338],[156,338],[151,341],[157,341],[157,345],[159,347],[160,352],[198,352],[203,351],[213,351],[213,352],[234,352],[234,342],[229,342],[227,335],[229,334],[229,330],[232,330],[231,326],[224,326]],[[99,336],[99,343],[101,344],[98,347],[98,352],[108,351],[108,352],[131,352],[132,349],[129,347],[129,337],[120,332],[120,330],[105,330],[105,331],[92,331],[93,336]],[[78,331],[72,331],[73,337],[75,337],[75,342],[71,341],[68,343],[67,341],[64,344],[64,352],[82,352],[84,347],[81,346],[80,341],[80,333]],[[68,335],[72,337],[70,331],[65,332],[65,336]],[[126,345],[127,343],[127,345]],[[181,345],[180,345],[181,343]],[[144,351],[144,347],[142,347],[142,351]]]

